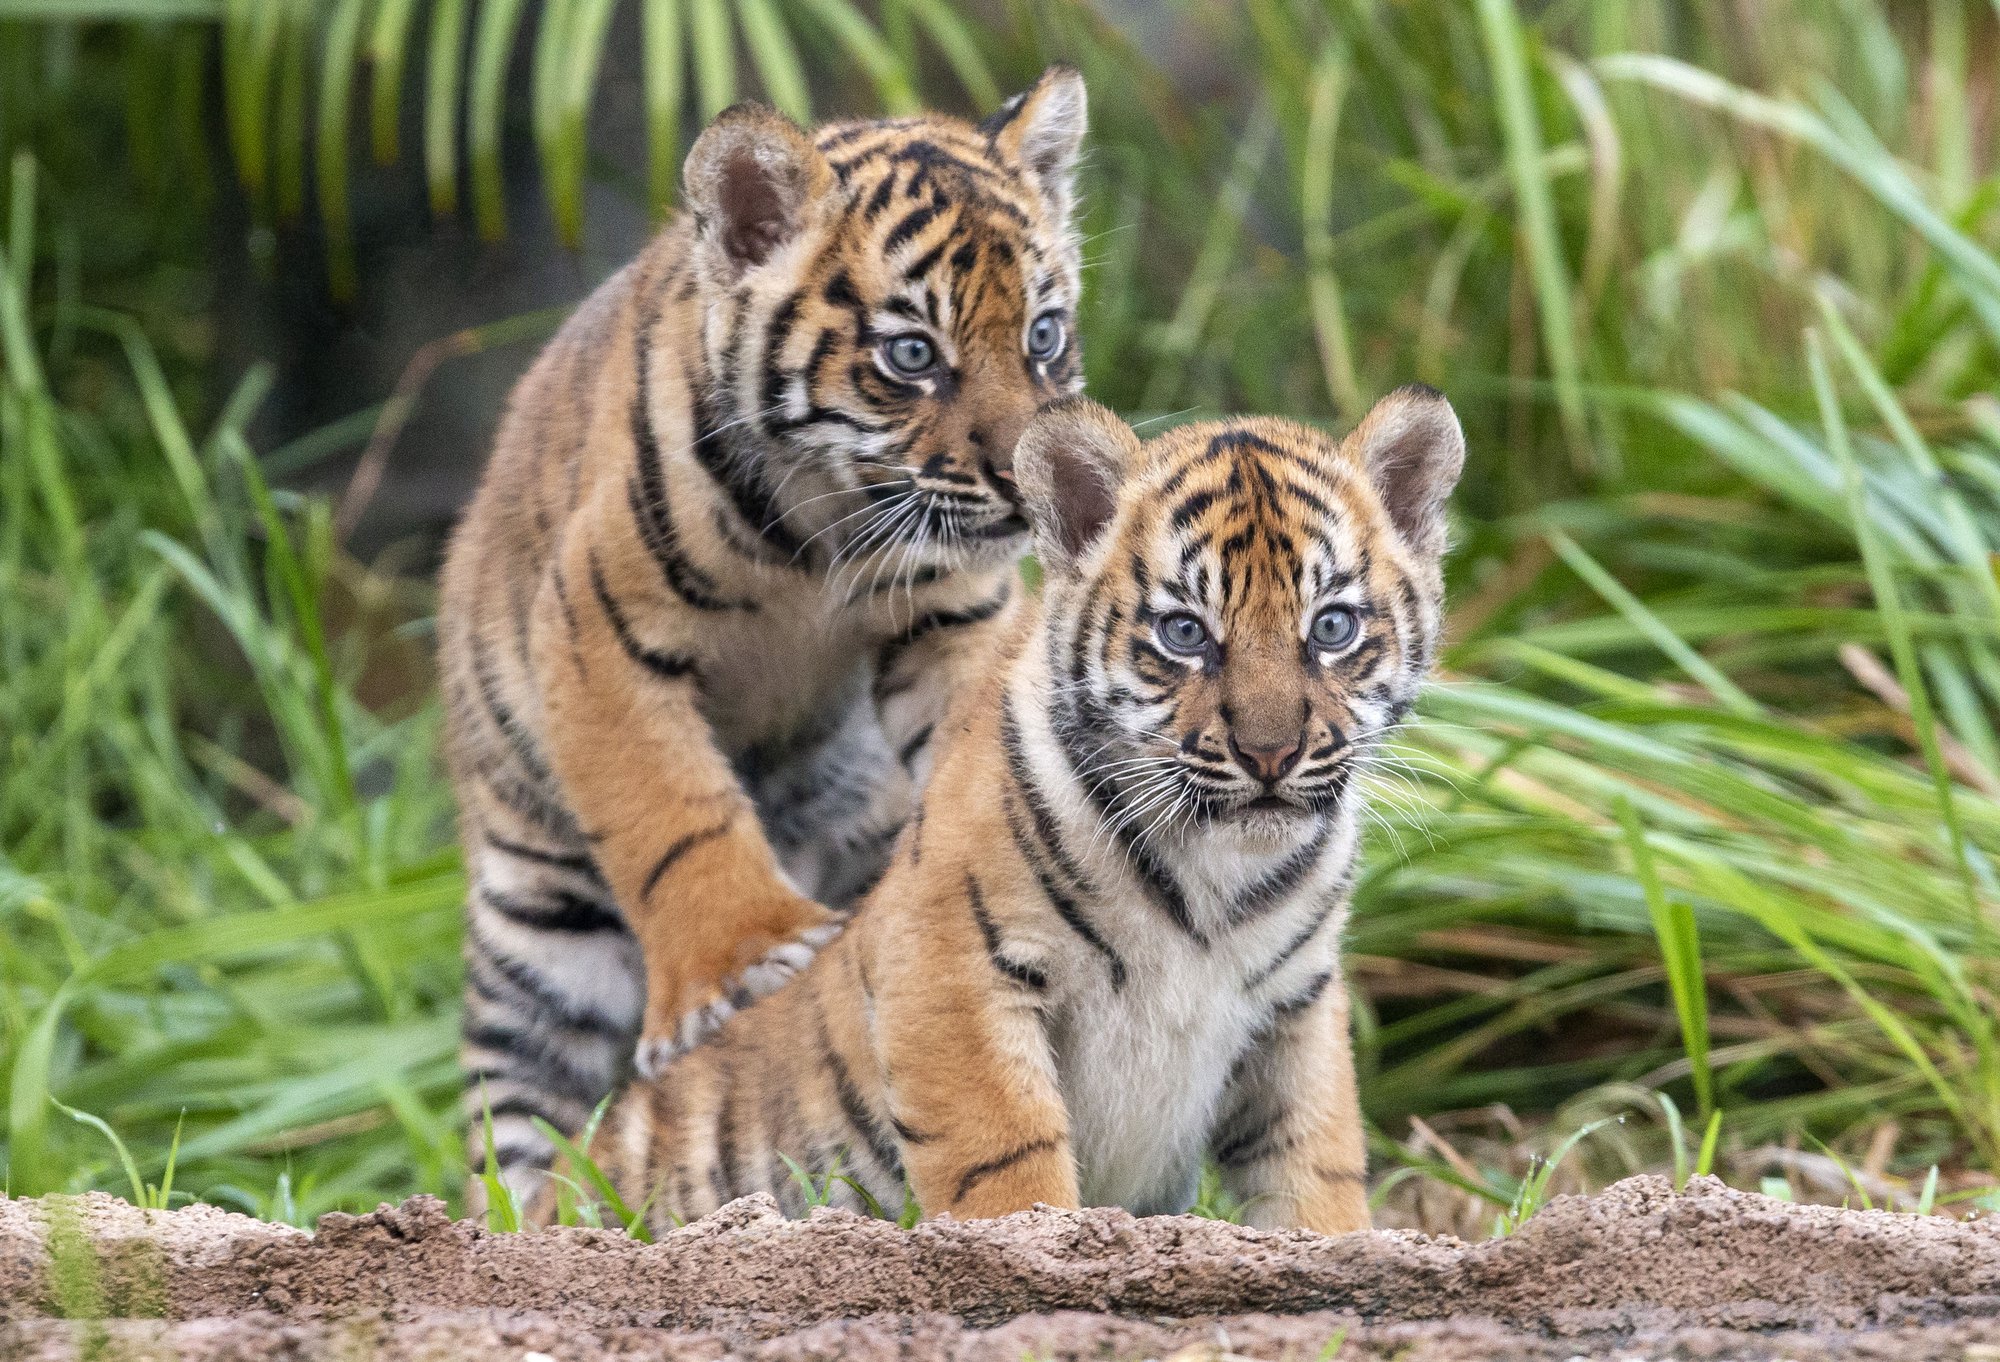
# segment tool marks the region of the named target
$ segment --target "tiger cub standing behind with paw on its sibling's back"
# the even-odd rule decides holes
[[[754,106],[514,390],[444,564],[466,1106],[526,1190],[634,1054],[776,988],[870,882],[1004,628],[1014,442],[1082,384],[1084,86],[984,124]]]

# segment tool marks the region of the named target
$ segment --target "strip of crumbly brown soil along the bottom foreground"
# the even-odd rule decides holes
[[[2000,1362],[1994,1224],[1706,1178],[1558,1198],[1484,1244],[1116,1210],[904,1232],[746,1198],[644,1246],[486,1234],[430,1198],[318,1234],[206,1206],[0,1200],[0,1358],[1310,1360],[1346,1330],[1342,1362]]]

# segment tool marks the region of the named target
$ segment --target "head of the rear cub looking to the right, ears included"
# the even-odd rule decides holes
[[[828,560],[1018,554],[1014,444],[1082,386],[1072,170],[1082,78],[1052,68],[984,124],[806,134],[722,114],[688,156],[718,414]],[[742,444],[738,444],[742,448]]]

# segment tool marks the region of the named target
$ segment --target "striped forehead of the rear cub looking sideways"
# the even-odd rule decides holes
[[[974,124],[944,114],[838,122],[816,144],[844,210],[830,238],[862,302],[952,328],[1074,306],[1076,244],[1056,206]]]

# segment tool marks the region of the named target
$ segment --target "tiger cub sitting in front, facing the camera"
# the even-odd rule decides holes
[[[1046,408],[1014,454],[1040,606],[840,940],[616,1100],[592,1158],[628,1204],[796,1212],[790,1158],[890,1212],[906,1180],[926,1214],[1176,1212],[1206,1154],[1254,1224],[1364,1228],[1354,776],[1430,666],[1462,462],[1428,388],[1340,444]]]

